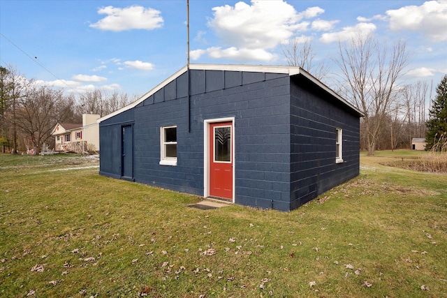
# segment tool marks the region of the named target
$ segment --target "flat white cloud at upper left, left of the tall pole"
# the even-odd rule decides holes
[[[163,17],[160,16],[161,12],[153,8],[144,8],[142,6],[115,8],[107,6],[100,8],[98,14],[108,16],[91,24],[90,27],[106,31],[152,30],[163,26]]]

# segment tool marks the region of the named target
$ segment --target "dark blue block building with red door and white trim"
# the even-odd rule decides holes
[[[98,119],[100,174],[290,211],[358,176],[362,116],[302,68],[191,64]]]

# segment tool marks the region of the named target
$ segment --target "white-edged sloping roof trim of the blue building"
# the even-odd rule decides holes
[[[130,110],[131,108],[135,107],[139,103],[141,103],[143,100],[147,99],[152,94],[155,94],[156,91],[159,91],[163,87],[165,87],[167,84],[175,80],[177,77],[182,75],[183,73],[186,73],[188,70],[227,70],[227,71],[246,71],[246,72],[252,72],[252,73],[284,73],[289,76],[293,75],[303,75],[308,80],[312,81],[314,84],[316,84],[318,87],[323,89],[324,91],[328,92],[337,100],[344,103],[344,105],[348,106],[352,110],[356,111],[360,116],[365,116],[360,110],[358,110],[356,107],[351,105],[348,101],[346,101],[342,96],[339,96],[335,91],[327,87],[325,84],[317,80],[313,75],[310,73],[307,73],[307,71],[303,70],[300,67],[297,66],[256,66],[256,65],[231,65],[231,64],[189,64],[189,66],[184,66],[180,70],[178,70],[176,73],[168,77],[166,80],[158,84],[156,87],[154,87],[152,90],[138,98],[138,100],[135,100],[135,102],[126,105],[125,107],[122,107],[119,110],[116,110],[115,112],[112,112],[108,115],[105,115],[104,117],[101,117],[98,119],[98,123],[101,121],[104,121],[106,119],[109,119],[111,117],[116,116],[117,114],[120,114],[126,110]]]

